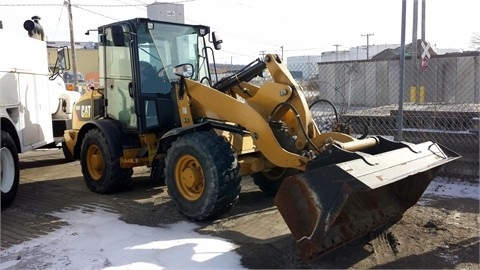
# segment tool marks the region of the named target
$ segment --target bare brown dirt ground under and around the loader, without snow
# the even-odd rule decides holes
[[[79,162],[65,162],[61,150],[23,154],[21,168],[16,201],[1,214],[2,249],[68,226],[50,214],[66,209],[107,209],[147,226],[186,220],[166,188],[146,177],[146,168],[135,170],[129,190],[111,195],[89,191]],[[380,235],[303,262],[272,198],[245,178],[235,207],[215,221],[198,223],[198,232],[235,243],[249,269],[480,269],[479,217],[478,200],[424,196]]]

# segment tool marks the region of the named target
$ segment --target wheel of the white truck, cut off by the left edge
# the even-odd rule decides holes
[[[17,194],[20,181],[18,151],[10,134],[2,130],[0,148],[0,189],[2,190],[2,209],[10,206]]]

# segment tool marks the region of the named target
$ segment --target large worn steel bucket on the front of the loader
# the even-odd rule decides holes
[[[440,166],[460,156],[433,142],[378,137],[367,152],[332,147],[286,178],[275,204],[303,260],[386,229],[422,196]]]

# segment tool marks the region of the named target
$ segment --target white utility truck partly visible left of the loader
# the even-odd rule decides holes
[[[66,48],[59,48],[56,62],[49,64],[39,19],[34,16],[25,21],[27,32],[0,21],[2,209],[12,204],[17,193],[18,154],[62,144],[64,130],[71,127],[73,103],[80,97],[78,92],[67,91],[59,76],[68,56]]]

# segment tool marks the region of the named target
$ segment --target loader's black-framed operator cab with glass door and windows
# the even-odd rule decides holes
[[[192,65],[192,79],[211,82],[206,44],[210,29],[150,19],[132,19],[99,29],[100,88],[108,100],[107,117],[128,132],[162,132],[180,126],[174,73]],[[221,40],[214,37],[215,48]],[[103,85],[102,85],[103,84]]]

